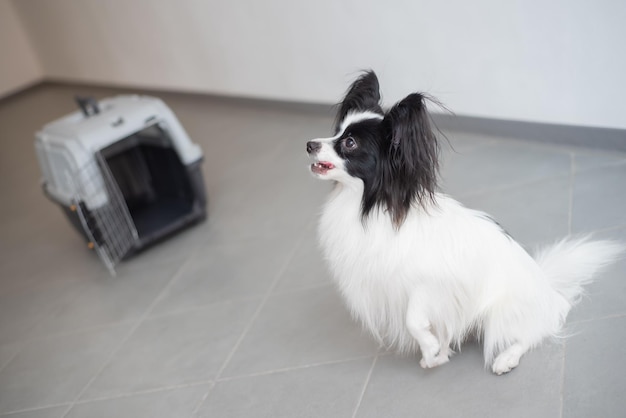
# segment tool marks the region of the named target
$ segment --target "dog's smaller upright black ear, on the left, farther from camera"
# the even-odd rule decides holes
[[[339,104],[339,112],[335,120],[335,132],[339,130],[339,124],[349,112],[368,110],[383,115],[383,110],[380,107],[378,77],[372,70],[364,72],[352,83],[346,97]]]

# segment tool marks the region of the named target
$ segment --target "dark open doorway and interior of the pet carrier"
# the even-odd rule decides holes
[[[204,216],[199,166],[185,166],[158,125],[100,153],[128,207],[140,247]]]

